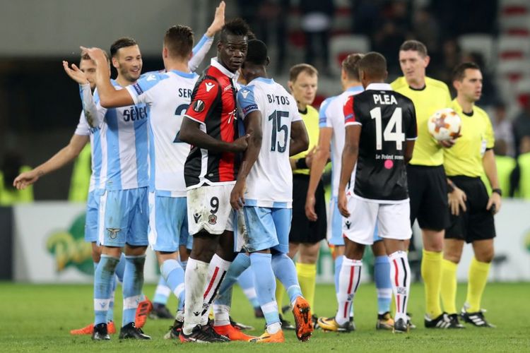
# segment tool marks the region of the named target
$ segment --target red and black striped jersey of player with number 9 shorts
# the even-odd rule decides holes
[[[237,138],[235,74],[217,59],[204,70],[192,93],[186,111],[188,119],[201,124],[201,131],[218,140],[231,143]],[[204,185],[233,184],[237,177],[237,156],[192,145],[184,164],[187,189]]]

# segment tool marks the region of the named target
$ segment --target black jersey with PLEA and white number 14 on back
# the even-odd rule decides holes
[[[406,140],[416,140],[413,102],[386,83],[371,83],[344,106],[346,126],[361,125],[354,196],[377,203],[408,201]]]

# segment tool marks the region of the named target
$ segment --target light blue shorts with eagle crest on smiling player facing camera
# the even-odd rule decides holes
[[[101,190],[98,244],[105,246],[147,246],[147,188]]]

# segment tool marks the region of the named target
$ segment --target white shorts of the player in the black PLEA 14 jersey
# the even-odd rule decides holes
[[[379,225],[379,237],[411,239],[411,206],[404,203],[375,203],[355,196],[348,196],[350,217],[343,222],[343,237],[358,244],[374,243],[375,225]]]

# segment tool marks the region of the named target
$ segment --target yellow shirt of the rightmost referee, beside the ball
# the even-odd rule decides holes
[[[481,177],[484,172],[484,152],[495,144],[490,118],[477,106],[473,107],[471,115],[464,114],[456,99],[452,101],[451,107],[459,114],[462,128],[457,143],[452,148],[444,148],[445,174],[449,177]]]

